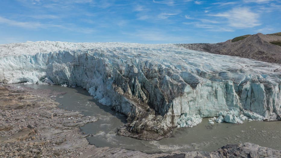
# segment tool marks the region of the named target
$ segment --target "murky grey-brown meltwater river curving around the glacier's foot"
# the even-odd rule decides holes
[[[88,123],[81,127],[83,132],[93,134],[92,137],[88,138],[88,141],[98,147],[121,147],[155,153],[174,150],[212,151],[226,144],[251,142],[281,150],[281,122],[245,121],[243,125],[227,123],[210,125],[208,119],[203,119],[203,122],[193,128],[176,128],[171,137],[160,141],[141,141],[115,135],[114,131],[126,122],[126,117],[113,111],[109,106],[97,103],[82,88],[22,84],[17,86],[67,92],[64,95],[52,97],[62,104],[61,108],[82,111],[84,115],[93,115],[99,119],[97,122]]]

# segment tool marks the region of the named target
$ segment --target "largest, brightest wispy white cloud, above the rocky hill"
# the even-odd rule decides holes
[[[252,12],[249,8],[233,8],[230,11],[209,14],[210,16],[228,19],[228,25],[235,28],[252,28],[261,25],[258,21],[259,14]]]

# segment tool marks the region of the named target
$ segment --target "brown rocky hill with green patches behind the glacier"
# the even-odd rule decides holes
[[[191,50],[281,64],[281,33],[244,35],[222,43],[180,44]]]

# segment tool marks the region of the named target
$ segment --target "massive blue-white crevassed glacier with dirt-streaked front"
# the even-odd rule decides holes
[[[155,139],[197,115],[280,120],[279,64],[175,44],[27,41],[0,45],[0,55],[0,83],[83,87],[128,116],[126,136]]]

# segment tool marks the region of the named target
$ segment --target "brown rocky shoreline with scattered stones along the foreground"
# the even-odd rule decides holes
[[[90,145],[79,127],[94,116],[58,108],[48,90],[0,85],[0,157],[280,157],[281,151],[251,143],[226,145],[213,152],[147,154]]]

